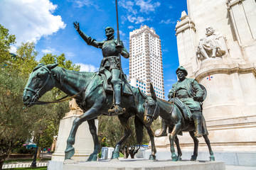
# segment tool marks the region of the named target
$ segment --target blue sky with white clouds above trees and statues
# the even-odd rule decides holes
[[[129,32],[140,26],[154,28],[160,36],[164,86],[166,96],[176,81],[178,67],[175,26],[182,11],[187,11],[186,0],[119,0],[120,39],[129,50]],[[92,38],[105,40],[105,28],[117,28],[114,0],[1,0],[0,23],[16,35],[17,44],[36,42],[38,60],[45,53],[65,53],[68,60],[80,64],[84,71],[95,72],[102,60],[102,51],[88,46],[73,28],[73,21]],[[129,60],[122,58],[125,74],[129,74]],[[167,97],[166,97],[167,99]]]

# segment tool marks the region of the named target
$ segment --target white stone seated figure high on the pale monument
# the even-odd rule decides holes
[[[224,35],[215,32],[211,26],[206,27],[206,37],[201,38],[197,48],[196,55],[198,59],[208,59],[209,57],[221,57],[225,55],[223,44],[220,38],[225,38]]]

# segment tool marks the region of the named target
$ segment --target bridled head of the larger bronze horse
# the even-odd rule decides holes
[[[33,69],[23,92],[22,100],[25,106],[33,106],[43,94],[53,89],[55,84],[51,69],[57,65],[41,63]]]

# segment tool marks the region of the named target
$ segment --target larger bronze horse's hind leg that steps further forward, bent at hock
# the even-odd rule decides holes
[[[118,159],[119,150],[121,149],[122,144],[128,139],[128,137],[130,137],[132,135],[132,130],[129,126],[129,118],[124,118],[122,115],[119,115],[118,118],[119,118],[119,121],[120,121],[122,127],[124,128],[124,135],[121,138],[121,140],[119,140],[119,142],[117,142],[117,145],[114,147],[114,152],[112,154],[111,159]]]

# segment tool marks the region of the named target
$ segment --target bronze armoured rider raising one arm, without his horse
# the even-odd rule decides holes
[[[116,113],[117,115],[125,112],[124,108],[120,107],[121,103],[121,84],[122,80],[120,78],[122,72],[121,61],[119,61],[119,53],[124,58],[129,58],[129,52],[124,47],[122,41],[120,41],[120,45],[117,45],[117,40],[114,39],[114,29],[112,27],[107,27],[105,29],[107,40],[103,40],[101,42],[96,41],[82,33],[80,30],[79,23],[74,22],[74,27],[78,31],[79,35],[83,40],[87,43],[87,45],[92,45],[93,47],[97,47],[102,49],[103,59],[100,64],[100,72],[103,72],[104,69],[107,69],[111,72],[111,84],[114,91],[114,102],[112,108],[108,111],[109,113]]]

